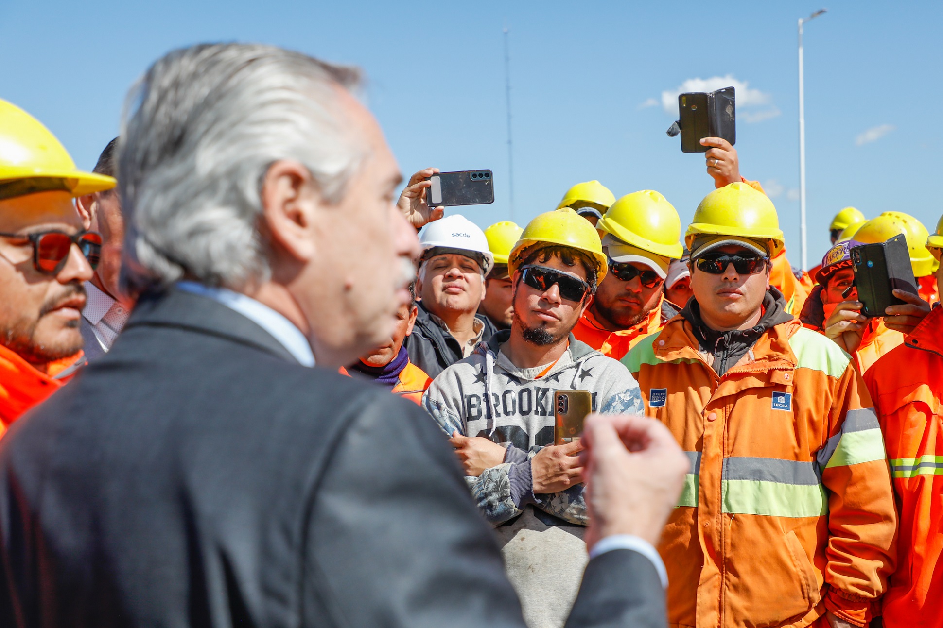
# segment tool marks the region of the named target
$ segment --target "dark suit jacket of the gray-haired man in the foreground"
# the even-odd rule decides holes
[[[415,404],[307,369],[171,290],[0,441],[2,626],[521,626]],[[663,625],[651,564],[590,561],[571,626]]]

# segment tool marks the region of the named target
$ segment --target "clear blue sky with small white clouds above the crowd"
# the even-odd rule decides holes
[[[687,223],[712,180],[664,133],[667,92],[731,76],[741,170],[769,191],[799,263],[796,21],[805,29],[809,264],[841,207],[916,215],[939,198],[943,3],[849,2],[25,3],[0,0],[0,98],[24,107],[91,168],[147,65],[198,41],[262,41],[359,65],[367,101],[408,175],[490,168],[511,217],[503,34],[510,28],[513,219],[597,178],[616,196],[653,189]],[[747,95],[749,93],[749,96]],[[751,104],[753,103],[753,104]],[[747,122],[747,120],[753,122]]]

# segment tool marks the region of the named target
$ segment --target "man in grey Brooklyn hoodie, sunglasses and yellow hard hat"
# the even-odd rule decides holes
[[[503,544],[531,626],[561,626],[586,563],[579,441],[554,445],[554,390],[592,393],[603,414],[640,414],[632,376],[575,339],[606,258],[566,207],[527,225],[508,258],[511,328],[433,381],[423,405],[451,437],[472,496]]]

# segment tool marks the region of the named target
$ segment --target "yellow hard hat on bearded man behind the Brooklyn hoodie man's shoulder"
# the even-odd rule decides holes
[[[606,210],[596,228],[657,256],[681,259],[681,219],[668,199],[654,190],[626,194]]]

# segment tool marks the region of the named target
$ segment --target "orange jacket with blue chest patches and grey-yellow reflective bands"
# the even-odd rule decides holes
[[[793,319],[722,377],[676,317],[622,359],[691,471],[659,545],[671,626],[857,625],[894,568],[881,430],[849,355]]]

